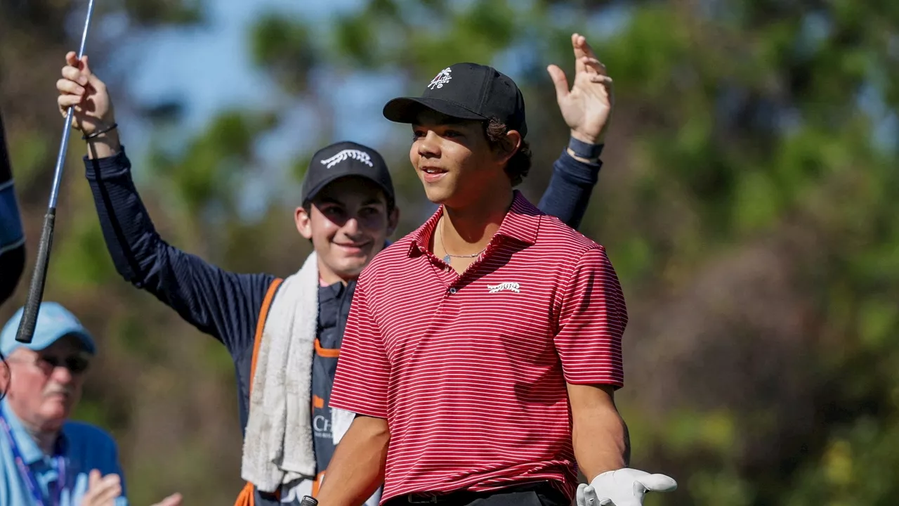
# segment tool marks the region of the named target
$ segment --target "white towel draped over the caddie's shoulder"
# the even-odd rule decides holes
[[[281,284],[256,358],[240,475],[263,492],[316,475],[311,421],[318,322],[316,261],[312,253]]]

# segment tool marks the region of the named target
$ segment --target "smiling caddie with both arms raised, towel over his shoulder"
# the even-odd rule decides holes
[[[583,38],[576,41],[575,57],[586,58],[586,51]],[[110,95],[87,63],[67,55],[58,105],[60,113],[76,106],[75,126],[88,143],[87,179],[113,263],[133,285],[220,340],[234,358],[245,428],[242,476],[248,482],[238,504],[292,502],[316,492],[352,421],[352,413],[331,410],[330,393],[356,278],[387,245],[398,221],[384,159],[352,142],[319,150],[294,213],[298,232],[315,252],[284,280],[227,272],[170,246],[156,232],[131,179]],[[573,147],[556,160],[541,203],[573,225],[596,182],[596,143],[610,112],[589,86],[589,79],[576,81],[576,100],[559,101]],[[529,166],[530,159],[522,159],[521,172]],[[369,504],[378,502],[373,492]]]

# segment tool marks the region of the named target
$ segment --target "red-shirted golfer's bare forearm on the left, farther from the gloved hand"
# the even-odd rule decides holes
[[[357,416],[325,471],[319,506],[359,506],[384,480],[390,431],[387,420]]]

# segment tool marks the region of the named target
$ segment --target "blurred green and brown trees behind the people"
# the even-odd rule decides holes
[[[60,131],[53,86],[85,5],[0,4],[0,107],[31,260]],[[294,272],[308,252],[291,222],[307,160],[347,132],[391,163],[397,237],[413,230],[432,206],[408,131],[379,108],[457,61],[523,89],[536,168],[522,191],[539,198],[567,138],[545,68],[571,77],[569,35],[583,33],[617,107],[581,230],[609,249],[628,297],[619,404],[634,465],[681,485],[647,503],[895,504],[899,3],[358,0],[315,20],[260,8],[243,43],[266,76],[258,93],[275,98],[224,104],[188,129],[178,97],[129,93],[142,61],[116,51],[200,29],[208,12],[102,0],[88,41],[123,133],[125,118],[140,125],[129,153],[170,242],[238,271]],[[227,353],[115,274],[80,140],[69,153],[46,298],[102,343],[77,416],[119,439],[135,504],[170,491],[229,503],[241,483]]]

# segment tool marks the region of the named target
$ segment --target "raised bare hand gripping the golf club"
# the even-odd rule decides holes
[[[57,90],[59,113],[65,117],[69,106],[74,105],[72,126],[85,135],[115,122],[106,85],[93,75],[87,55],[79,60],[75,51],[66,54],[66,66],[62,68],[62,78],[57,81]]]

